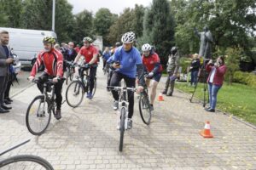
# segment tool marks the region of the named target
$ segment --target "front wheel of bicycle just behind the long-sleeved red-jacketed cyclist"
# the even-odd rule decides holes
[[[74,81],[71,82],[66,91],[67,105],[71,107],[77,107],[81,104],[84,99],[84,87],[82,82]]]

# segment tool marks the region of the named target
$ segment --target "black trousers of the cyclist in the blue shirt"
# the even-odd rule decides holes
[[[111,77],[110,86],[119,86],[119,82],[124,78],[126,86],[128,88],[135,88],[135,78],[126,77],[124,74],[113,71],[113,75]],[[117,91],[112,90],[113,99],[119,100],[119,93]],[[133,106],[134,106],[134,92],[128,91],[128,101],[129,101],[129,115],[128,118],[133,116]]]

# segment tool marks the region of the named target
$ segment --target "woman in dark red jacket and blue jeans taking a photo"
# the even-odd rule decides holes
[[[209,72],[207,83],[210,101],[209,107],[206,109],[206,111],[215,112],[218,90],[222,87],[224,82],[224,74],[227,70],[226,65],[224,65],[224,57],[219,56],[214,64],[212,59],[210,59],[207,63],[206,69],[207,72]]]

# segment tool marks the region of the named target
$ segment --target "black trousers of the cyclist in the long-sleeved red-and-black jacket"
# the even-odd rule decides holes
[[[45,72],[39,78],[38,88],[39,88],[39,90],[40,90],[40,92],[42,94],[44,93],[44,82],[47,82],[49,78],[53,78],[53,77],[50,77]],[[62,102],[61,90],[62,90],[62,85],[63,85],[63,81],[59,81],[59,82],[55,83],[55,96],[56,96],[56,105],[57,105],[56,109],[57,110],[61,110],[61,102]]]

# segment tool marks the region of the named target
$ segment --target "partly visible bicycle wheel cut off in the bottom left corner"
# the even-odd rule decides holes
[[[39,156],[13,156],[3,161],[0,161],[1,170],[14,170],[14,169],[41,169],[41,170],[54,170],[48,161]]]

